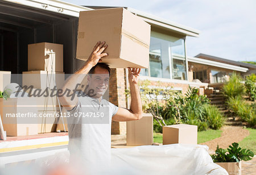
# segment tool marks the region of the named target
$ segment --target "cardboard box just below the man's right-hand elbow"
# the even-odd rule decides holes
[[[126,145],[152,145],[153,143],[153,116],[143,114],[140,120],[126,122]]]

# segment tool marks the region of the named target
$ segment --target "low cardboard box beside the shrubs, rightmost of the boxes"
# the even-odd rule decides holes
[[[163,144],[197,144],[197,126],[174,124],[163,127]]]

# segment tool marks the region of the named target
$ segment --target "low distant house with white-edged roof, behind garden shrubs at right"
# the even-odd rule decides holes
[[[224,82],[229,80],[230,74],[236,72],[243,78],[256,73],[256,65],[239,61],[222,59],[203,53],[195,57],[188,57],[189,81],[195,79],[206,82],[211,87],[218,89]]]

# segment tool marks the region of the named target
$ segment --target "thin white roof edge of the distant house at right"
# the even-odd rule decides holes
[[[216,66],[218,68],[236,70],[236,71],[239,71],[239,72],[247,72],[247,70],[249,70],[248,68],[245,68],[245,67],[242,67],[242,66],[226,64],[226,63],[219,62],[219,61],[212,61],[212,60],[207,60],[207,59],[201,59],[201,58],[198,58],[198,57],[189,57],[188,56],[187,60],[189,62],[195,62],[195,63],[198,63],[198,64],[205,64],[205,65],[210,65],[210,66]]]

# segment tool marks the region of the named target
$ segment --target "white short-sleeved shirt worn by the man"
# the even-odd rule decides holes
[[[69,110],[68,149],[71,161],[80,160],[86,164],[106,163],[111,159],[111,123],[118,107],[112,103],[88,96]]]

